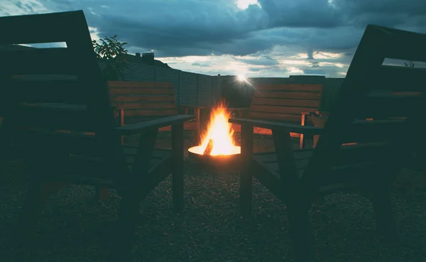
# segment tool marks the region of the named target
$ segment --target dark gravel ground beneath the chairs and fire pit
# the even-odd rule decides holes
[[[166,147],[163,137],[158,146]],[[185,142],[185,147],[190,142]],[[273,150],[271,139],[256,140],[256,151]],[[6,248],[26,192],[19,162],[0,170],[0,261],[106,261],[119,197],[92,201],[94,188],[70,186],[45,204],[31,247]],[[212,173],[185,163],[185,210],[171,209],[171,179],[155,188],[141,204],[141,223],[134,255],[140,261],[293,261],[285,205],[253,182],[253,213],[238,213],[239,176]],[[359,195],[334,194],[310,212],[317,261],[425,261],[426,194],[422,176],[403,170],[393,203],[400,232],[398,243],[376,236],[371,204]]]

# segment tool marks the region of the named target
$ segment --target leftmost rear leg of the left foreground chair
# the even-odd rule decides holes
[[[21,241],[31,234],[40,220],[45,200],[65,186],[66,184],[63,182],[43,182],[41,180],[31,183],[18,222],[16,222],[16,228],[13,230],[13,242]]]

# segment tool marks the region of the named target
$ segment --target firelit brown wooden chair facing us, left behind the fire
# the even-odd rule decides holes
[[[204,107],[178,107],[172,83],[109,81],[108,85],[113,105],[120,111],[121,126],[158,116],[194,114],[195,121],[185,122],[183,129],[193,131],[195,143],[200,143],[200,111]],[[164,126],[158,131],[171,131],[171,126]]]

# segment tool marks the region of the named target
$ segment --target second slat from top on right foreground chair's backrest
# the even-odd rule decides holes
[[[371,86],[397,92],[423,92],[426,89],[425,74],[426,68],[382,65],[371,80]]]

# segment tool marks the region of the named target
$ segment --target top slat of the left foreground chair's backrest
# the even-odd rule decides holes
[[[54,43],[72,38],[71,22],[83,18],[82,11],[0,17],[1,44]],[[43,28],[43,30],[40,30]]]

